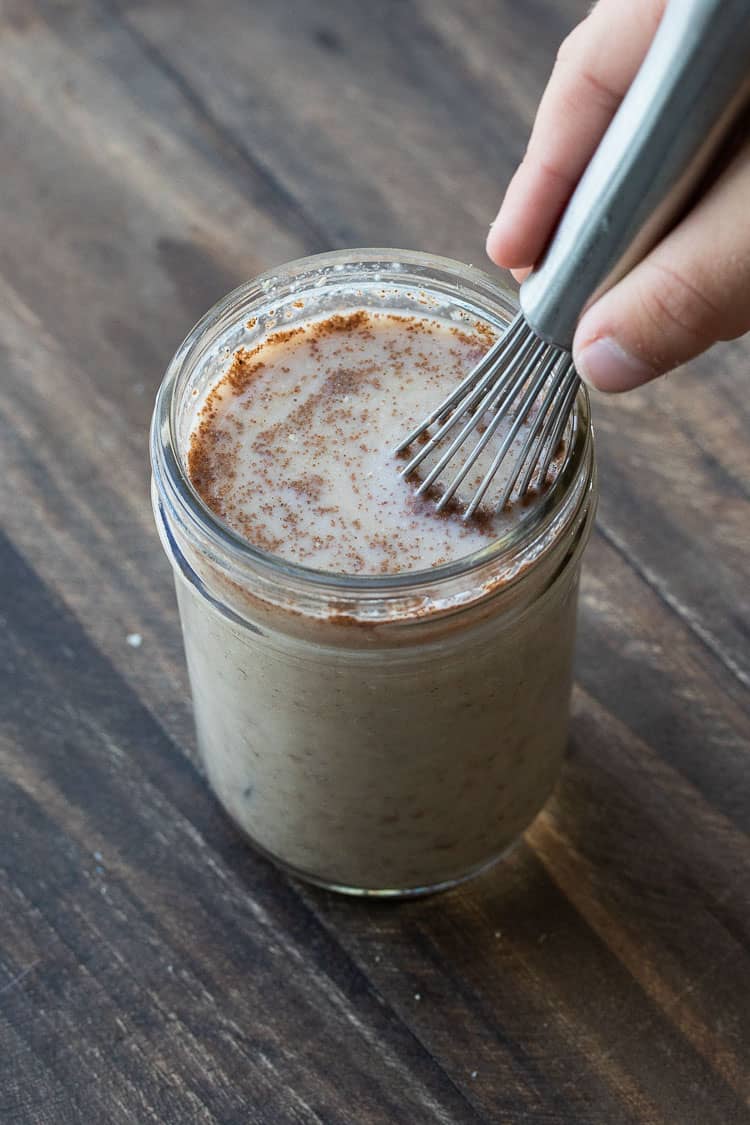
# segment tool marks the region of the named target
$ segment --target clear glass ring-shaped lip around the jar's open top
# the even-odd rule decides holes
[[[570,450],[553,485],[543,493],[539,501],[530,504],[526,514],[498,539],[487,547],[470,555],[461,556],[450,562],[421,570],[404,570],[396,574],[345,574],[306,567],[299,562],[290,562],[278,555],[254,547],[241,534],[234,531],[220,516],[205,503],[193,487],[183,467],[175,436],[175,389],[178,377],[191,361],[200,341],[215,328],[227,314],[236,309],[234,320],[246,318],[249,312],[260,300],[268,303],[273,296],[274,285],[283,285],[293,278],[302,278],[311,272],[320,271],[322,277],[333,274],[332,280],[342,280],[345,269],[352,271],[359,268],[372,269],[379,267],[382,273],[392,273],[392,280],[406,280],[409,269],[422,269],[442,272],[450,276],[452,284],[461,287],[466,282],[473,289],[477,298],[482,291],[488,300],[501,305],[506,312],[513,312],[508,294],[488,273],[473,266],[450,258],[430,254],[422,251],[399,250],[394,248],[352,248],[298,258],[282,266],[266,270],[249,281],[237,286],[222,297],[197,322],[184,338],[171,360],[164,379],[160,386],[151,428],[151,461],[156,490],[170,501],[170,507],[177,511],[187,524],[205,537],[210,544],[215,559],[222,555],[229,556],[235,566],[261,569],[278,578],[301,583],[310,591],[315,588],[335,592],[338,596],[346,594],[361,595],[405,595],[416,592],[419,587],[433,586],[450,582],[457,577],[473,575],[488,565],[513,561],[542,539],[550,525],[560,516],[570,500],[573,485],[580,469],[590,459],[591,429],[589,398],[586,387],[581,384],[573,408],[573,430]],[[345,274],[343,274],[345,277]],[[386,280],[385,278],[382,279]],[[389,278],[389,280],[391,280]],[[318,287],[320,281],[317,282]],[[430,290],[431,278],[424,276],[419,280],[422,288]],[[468,296],[466,290],[461,290]],[[304,295],[305,288],[296,288],[296,296]],[[493,316],[491,309],[486,310],[487,318]],[[590,471],[590,470],[589,470]],[[581,497],[582,500],[582,497]],[[578,505],[576,505],[578,507]],[[567,521],[566,521],[567,522]],[[555,537],[557,538],[557,537]]]

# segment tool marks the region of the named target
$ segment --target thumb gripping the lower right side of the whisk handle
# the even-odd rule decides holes
[[[750,328],[750,148],[644,260],[581,316],[573,359],[598,390],[631,390]]]

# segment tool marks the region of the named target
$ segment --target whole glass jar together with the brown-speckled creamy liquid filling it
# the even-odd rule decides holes
[[[437,482],[417,495],[435,453],[401,477],[394,449],[515,308],[459,262],[398,254],[306,259],[228,295],[152,428],[208,781],[287,871],[376,896],[469,878],[549,796],[594,513],[582,392],[545,480],[501,511],[533,420],[470,519],[510,420],[444,513]]]

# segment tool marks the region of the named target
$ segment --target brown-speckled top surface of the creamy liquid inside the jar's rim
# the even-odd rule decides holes
[[[240,349],[193,430],[192,484],[251,543],[317,569],[397,573],[477,551],[515,516],[494,514],[489,503],[507,480],[514,449],[488,506],[469,521],[460,514],[508,423],[462,484],[458,505],[443,514],[435,493],[419,497],[415,480],[399,476],[405,462],[392,451],[494,340],[482,324],[360,309]],[[516,451],[527,432],[517,435]],[[476,440],[451,461],[453,472]],[[432,464],[419,467],[422,478]]]

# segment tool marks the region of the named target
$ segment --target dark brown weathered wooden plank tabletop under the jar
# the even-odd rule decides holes
[[[750,343],[594,408],[570,754],[512,858],[298,885],[193,760],[155,389],[273,263],[481,263],[587,0],[0,4],[0,1119],[750,1120]]]

